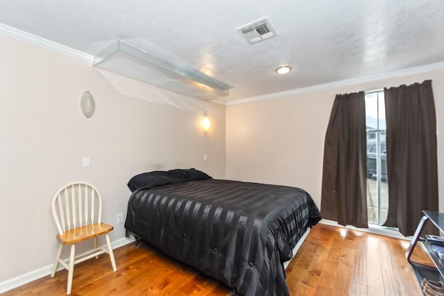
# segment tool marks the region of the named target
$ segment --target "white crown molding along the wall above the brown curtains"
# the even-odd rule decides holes
[[[408,69],[402,69],[398,71],[390,71],[382,74],[364,76],[360,78],[352,78],[347,80],[340,80],[336,82],[325,83],[323,85],[314,85],[311,87],[302,87],[300,89],[291,89],[285,92],[275,92],[273,94],[264,94],[263,96],[252,96],[250,98],[241,98],[233,101],[219,101],[217,103],[223,103],[223,105],[240,105],[245,103],[253,103],[257,101],[271,100],[273,98],[282,98],[284,96],[292,96],[295,94],[306,94],[308,92],[318,92],[325,89],[333,89],[335,87],[344,87],[348,85],[356,85],[364,82],[371,82],[375,80],[383,80],[388,78],[397,78],[402,76],[408,76],[418,73],[425,73],[436,70],[443,70],[444,62],[438,62],[436,64],[427,64],[425,66],[413,67]]]

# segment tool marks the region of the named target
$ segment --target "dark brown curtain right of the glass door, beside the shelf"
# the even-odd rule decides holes
[[[398,227],[404,236],[411,236],[423,209],[438,211],[432,80],[384,89],[384,96],[388,172],[384,225]]]

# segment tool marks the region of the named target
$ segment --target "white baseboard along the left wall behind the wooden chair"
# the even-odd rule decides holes
[[[112,249],[117,249],[118,247],[122,247],[123,245],[127,245],[128,243],[132,243],[135,241],[134,238],[120,238],[117,241],[113,241],[111,243]],[[105,245],[104,245],[105,246]],[[55,256],[55,254],[54,254]],[[59,266],[58,270],[62,270],[63,267]],[[12,290],[13,288],[17,288],[24,284],[28,284],[31,281],[35,281],[36,279],[40,279],[41,277],[46,277],[47,275],[51,275],[53,271],[53,264],[46,265],[42,268],[38,268],[36,270],[31,270],[30,272],[26,272],[23,275],[18,275],[17,277],[12,277],[12,279],[6,279],[6,281],[0,282],[0,294],[5,293],[8,290]]]

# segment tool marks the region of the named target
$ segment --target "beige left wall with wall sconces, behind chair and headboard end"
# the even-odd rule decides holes
[[[203,112],[122,96],[86,62],[0,36],[0,65],[0,282],[53,262],[51,198],[67,182],[99,188],[117,241],[136,173],[194,167],[225,177],[224,106],[210,103],[219,116],[209,114],[205,134]],[[86,90],[96,100],[90,119],[79,107]]]

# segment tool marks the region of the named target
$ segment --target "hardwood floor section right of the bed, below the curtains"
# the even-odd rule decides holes
[[[290,295],[422,295],[409,241],[316,225],[287,268]],[[421,247],[413,261],[433,265]]]

